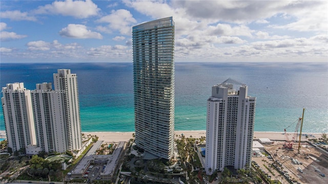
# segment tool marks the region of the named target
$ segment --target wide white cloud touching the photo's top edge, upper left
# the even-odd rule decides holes
[[[45,5],[35,10],[37,14],[60,14],[75,18],[87,18],[97,15],[100,9],[91,0],[65,2],[55,1],[51,5]]]

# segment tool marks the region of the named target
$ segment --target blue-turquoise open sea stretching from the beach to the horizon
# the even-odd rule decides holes
[[[53,83],[57,69],[78,77],[84,132],[134,131],[132,63],[27,63],[0,65],[0,86]],[[328,132],[328,63],[175,63],[175,130],[206,130],[211,87],[227,78],[257,97],[255,131],[294,132],[305,108],[302,132]],[[2,94],[1,94],[2,96]],[[5,130],[3,109],[0,130]]]

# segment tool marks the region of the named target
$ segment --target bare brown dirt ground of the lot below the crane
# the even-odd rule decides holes
[[[301,143],[301,151],[298,154],[296,147],[293,151],[283,148],[284,141],[275,141],[272,145],[263,145],[273,157],[271,162],[279,160],[283,171],[287,171],[291,178],[295,178],[300,183],[328,183],[328,157],[321,153],[317,148],[308,144]],[[293,159],[300,163],[294,163]],[[266,158],[268,159],[268,158]],[[303,173],[298,171],[300,168]],[[325,177],[321,176],[323,173]],[[278,174],[279,175],[279,174]]]

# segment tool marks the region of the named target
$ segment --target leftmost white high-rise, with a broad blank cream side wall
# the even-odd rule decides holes
[[[8,147],[25,154],[28,146],[37,144],[30,90],[24,88],[24,83],[13,83],[3,87],[2,92]]]

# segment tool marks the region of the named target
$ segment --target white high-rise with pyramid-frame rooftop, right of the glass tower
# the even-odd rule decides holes
[[[239,90],[234,85],[241,85]],[[248,87],[227,79],[212,87],[207,100],[206,172],[250,166],[256,97]]]

